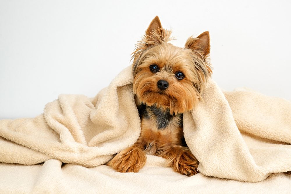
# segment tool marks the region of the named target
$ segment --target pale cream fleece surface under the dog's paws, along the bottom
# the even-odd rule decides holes
[[[138,173],[118,173],[108,166],[86,168],[51,159],[25,166],[0,163],[0,193],[290,193],[291,173],[273,173],[261,182],[192,177],[148,156]]]

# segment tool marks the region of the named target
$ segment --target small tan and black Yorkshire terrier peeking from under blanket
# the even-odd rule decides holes
[[[207,77],[212,75],[207,62],[209,33],[190,37],[184,48],[168,43],[170,35],[155,17],[132,53],[141,135],[107,163],[118,172],[138,172],[145,165],[146,154],[151,154],[167,159],[178,173],[198,173],[198,161],[184,140],[182,114],[201,99]]]

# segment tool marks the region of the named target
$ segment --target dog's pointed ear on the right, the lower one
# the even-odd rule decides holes
[[[205,58],[210,53],[210,37],[209,32],[203,32],[197,38],[188,38],[185,43],[185,48],[189,48],[191,50],[198,51],[203,55]]]

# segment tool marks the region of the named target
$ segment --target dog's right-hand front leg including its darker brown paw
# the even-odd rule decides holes
[[[193,176],[198,173],[197,167],[199,162],[187,147],[161,147],[157,155],[166,158],[169,166],[182,175]]]

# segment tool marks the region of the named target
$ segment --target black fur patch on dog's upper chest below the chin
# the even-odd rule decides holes
[[[183,127],[182,113],[172,115],[170,114],[169,109],[164,110],[156,107],[155,105],[147,106],[143,103],[138,106],[138,110],[141,119],[155,118],[158,130],[168,127],[168,125],[173,124],[173,122],[175,122],[175,125]]]

